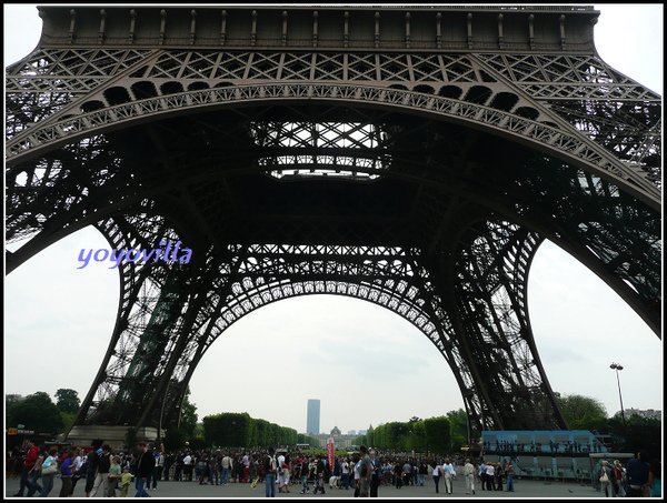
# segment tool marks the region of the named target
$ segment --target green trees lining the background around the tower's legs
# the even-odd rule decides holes
[[[183,400],[180,426],[169,429],[165,436],[167,450],[216,446],[269,446],[308,443],[319,446],[317,439],[298,434],[296,430],[280,426],[262,419],[253,419],[248,413],[207,415],[198,422],[197,406],[189,401],[187,390]],[[556,396],[560,411],[570,430],[588,430],[610,435],[611,447],[616,452],[638,452],[647,449],[654,455],[661,452],[660,420],[639,415],[626,418],[620,414],[607,416],[605,406],[596,399],[578,394]],[[70,389],[59,389],[56,402],[39,391],[28,396],[7,394],[4,398],[6,424],[8,427],[23,425],[24,430],[57,435],[64,433],[74,420],[81,405],[78,393]],[[480,432],[468,432],[468,416],[462,409],[450,411],[444,416],[419,419],[406,422],[392,421],[377,427],[369,426],[367,433],[355,440],[358,445],[370,445],[402,452],[455,453],[468,443],[477,441]],[[132,431],[128,432],[128,444],[132,444]]]

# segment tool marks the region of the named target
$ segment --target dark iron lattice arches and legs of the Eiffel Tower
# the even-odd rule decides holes
[[[171,426],[207,349],[296,295],[385,306],[477,429],[566,427],[527,310],[544,239],[660,333],[660,113],[589,7],[43,7],[7,70],[8,271],[87,225],[123,262],[76,424]]]

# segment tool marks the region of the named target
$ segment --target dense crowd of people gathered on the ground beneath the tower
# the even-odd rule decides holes
[[[476,460],[435,456],[411,456],[390,452],[378,453],[360,447],[358,453],[335,456],[330,465],[327,455],[306,455],[301,451],[278,450],[182,450],[167,453],[162,446],[151,449],[139,443],[131,452],[112,450],[101,441],[91,449],[38,447],[28,441],[24,452],[8,453],[7,467],[20,474],[20,489],[14,496],[48,496],[59,477],[59,496],[71,496],[83,480],[86,496],[147,496],[157,491],[159,482],[195,482],[225,486],[230,483],[262,484],[266,495],[292,490],[301,494],[325,494],[328,490],[354,491],[356,496],[377,496],[382,486],[440,485],[454,494],[452,481],[465,480],[466,494],[481,491],[514,491],[515,467],[511,461],[475,462]],[[605,495],[661,494],[659,467],[646,463],[643,454],[631,460],[627,469],[618,461],[604,462],[599,481]],[[135,491],[130,491],[132,486]],[[640,493],[640,494],[638,494]]]

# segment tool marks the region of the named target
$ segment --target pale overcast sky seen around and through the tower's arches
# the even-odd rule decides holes
[[[663,6],[596,6],[596,46],[614,68],[663,94]],[[34,6],[4,4],[4,66],[36,46]],[[118,305],[117,270],[77,270],[81,249],[108,248],[94,229],[56,243],[4,282],[4,392],[72,388],[82,399],[101,363]],[[621,363],[626,409],[663,408],[663,344],[596,275],[545,243],[529,275],[528,306],[551,388],[619,410],[611,362]],[[275,385],[267,385],[269,381]],[[50,376],[48,376],[50,375]],[[410,323],[374,304],[312,295],[243,318],[208,351],[190,382],[199,418],[230,411],[306,430],[308,399],[320,430],[344,433],[462,406],[454,374]]]

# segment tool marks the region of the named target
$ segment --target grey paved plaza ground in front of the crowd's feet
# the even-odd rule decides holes
[[[74,496],[83,496],[83,484],[84,481],[79,481],[77,484]],[[133,484],[132,484],[133,487]],[[312,487],[312,486],[311,486]],[[6,480],[6,496],[11,497],[19,489],[18,479]],[[290,499],[319,499],[319,497],[352,497],[354,491],[345,491],[339,489],[329,489],[326,486],[325,494],[312,495],[299,494],[300,486],[292,485],[289,494],[280,494],[276,491],[276,497],[290,497]],[[51,491],[50,497],[57,497],[60,492],[60,480],[56,480],[53,484],[53,491]],[[311,489],[312,492],[312,489]],[[429,481],[428,485],[424,487],[406,486],[396,489],[391,486],[380,486],[379,496],[389,499],[416,499],[416,497],[442,497],[442,499],[486,499],[486,497],[519,497],[519,499],[535,499],[535,497],[600,497],[601,494],[596,492],[590,485],[580,485],[576,482],[545,482],[534,480],[517,480],[515,481],[515,492],[500,492],[500,491],[476,491],[477,494],[466,495],[466,485],[462,477],[458,477],[454,482],[454,494],[445,494],[444,484],[440,483],[440,493],[436,494],[435,485],[432,480]],[[197,482],[160,482],[157,491],[149,491],[149,494],[153,497],[229,497],[229,499],[252,499],[252,497],[265,497],[263,484],[258,485],[256,489],[250,487],[250,484],[229,484],[226,486],[217,485],[199,485]],[[130,492],[130,495],[135,495],[135,492]]]

